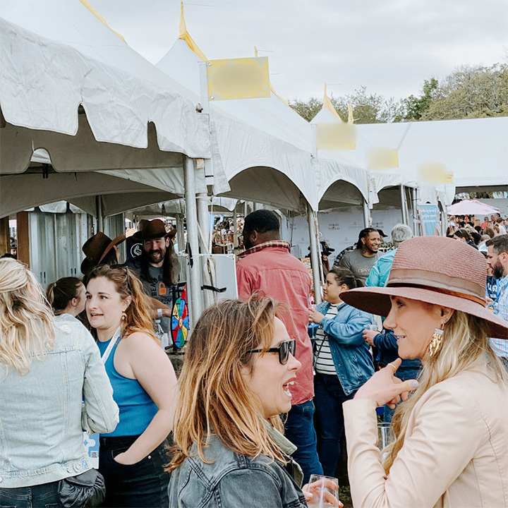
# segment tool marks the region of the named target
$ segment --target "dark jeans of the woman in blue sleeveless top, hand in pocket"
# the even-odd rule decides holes
[[[102,507],[150,507],[167,508],[169,473],[164,465],[169,463],[166,442],[143,460],[124,466],[113,458],[125,452],[138,436],[101,437],[99,472],[106,483],[106,499]]]

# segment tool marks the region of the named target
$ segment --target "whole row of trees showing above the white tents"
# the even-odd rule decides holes
[[[330,97],[337,113],[348,118],[348,104],[353,107],[355,123],[389,123],[508,116],[508,64],[490,67],[462,66],[442,82],[436,78],[423,81],[421,95],[405,99],[386,99],[362,86],[350,95]],[[289,102],[304,119],[311,121],[322,108],[322,100]]]

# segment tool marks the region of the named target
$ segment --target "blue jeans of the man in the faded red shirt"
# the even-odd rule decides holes
[[[322,474],[322,467],[317,457],[313,401],[291,406],[291,411],[284,423],[284,430],[285,436],[298,447],[292,457],[302,468],[303,485],[305,485],[311,474]]]

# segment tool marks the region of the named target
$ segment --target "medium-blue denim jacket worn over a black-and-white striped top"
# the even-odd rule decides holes
[[[316,308],[325,314],[319,327],[327,334],[335,370],[344,393],[349,395],[374,374],[370,347],[363,339],[363,329],[374,322],[374,317],[346,303],[337,306],[335,317],[326,317],[329,306],[322,302]]]

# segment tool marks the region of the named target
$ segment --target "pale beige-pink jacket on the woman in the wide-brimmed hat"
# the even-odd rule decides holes
[[[355,508],[507,508],[508,386],[485,361],[428,389],[385,476],[375,402],[343,406]]]

